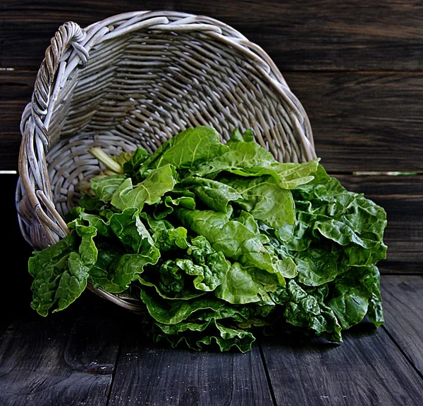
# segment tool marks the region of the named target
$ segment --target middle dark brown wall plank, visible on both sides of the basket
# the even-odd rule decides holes
[[[20,117],[35,75],[0,71],[3,170],[17,167]],[[329,172],[423,172],[423,74],[291,72],[285,77],[305,106],[317,155]]]

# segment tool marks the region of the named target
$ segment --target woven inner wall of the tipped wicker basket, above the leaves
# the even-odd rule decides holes
[[[80,179],[99,171],[91,146],[153,152],[187,127],[211,125],[222,141],[234,127],[251,128],[276,159],[304,160],[296,134],[302,110],[293,111],[272,81],[245,53],[201,32],[130,32],[99,43],[66,81],[51,117],[47,163],[57,210],[73,207]]]

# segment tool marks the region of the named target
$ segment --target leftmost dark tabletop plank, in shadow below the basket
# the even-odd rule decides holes
[[[106,405],[121,318],[87,292],[61,314],[16,319],[0,340],[0,405]]]

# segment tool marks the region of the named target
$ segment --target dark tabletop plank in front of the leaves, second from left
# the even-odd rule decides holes
[[[257,345],[250,353],[152,345],[129,322],[108,406],[272,405]]]

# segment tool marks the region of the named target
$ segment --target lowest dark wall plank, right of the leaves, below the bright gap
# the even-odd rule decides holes
[[[350,191],[386,210],[388,224],[384,241],[386,260],[379,262],[381,272],[422,272],[423,252],[423,177],[335,175]]]

